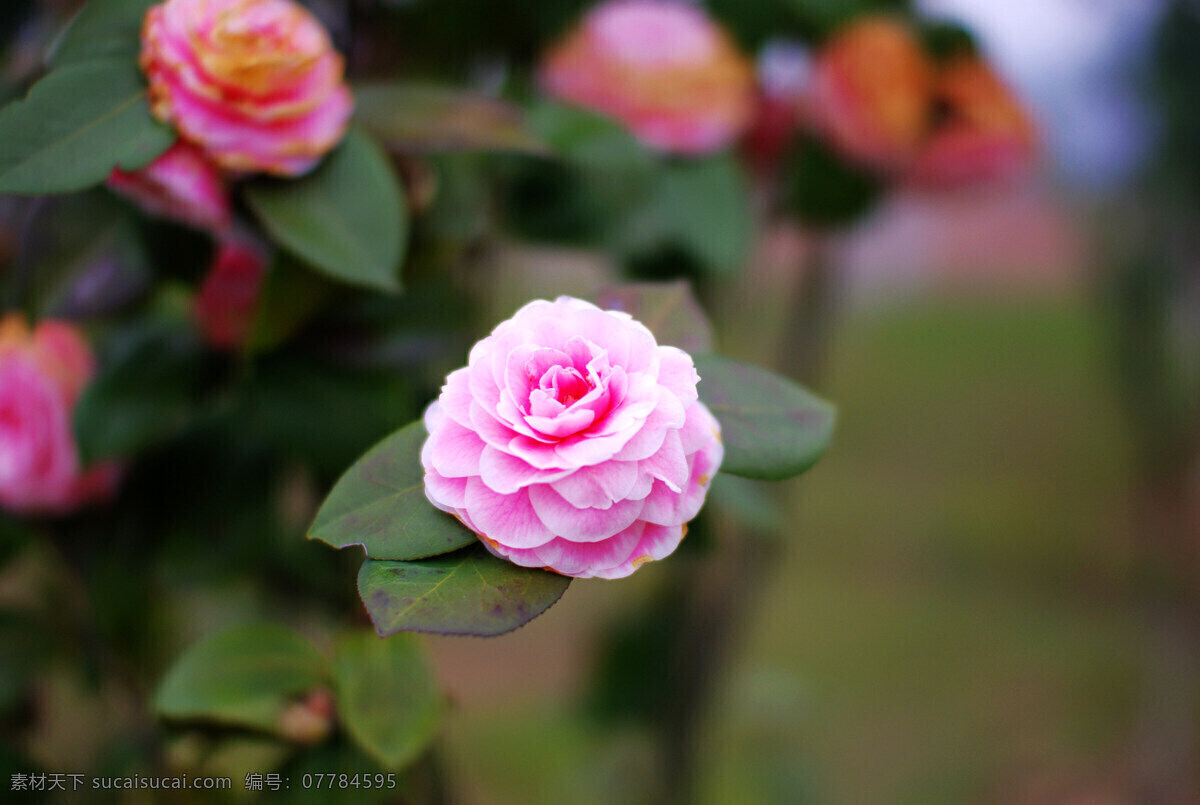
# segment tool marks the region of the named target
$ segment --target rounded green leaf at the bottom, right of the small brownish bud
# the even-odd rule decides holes
[[[342,725],[384,768],[401,769],[428,749],[444,710],[437,680],[414,635],[347,635],[334,655]]]

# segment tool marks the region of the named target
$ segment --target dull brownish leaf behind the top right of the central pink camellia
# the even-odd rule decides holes
[[[686,280],[613,286],[596,294],[596,305],[629,313],[649,328],[660,344],[691,355],[713,352],[713,325]]]

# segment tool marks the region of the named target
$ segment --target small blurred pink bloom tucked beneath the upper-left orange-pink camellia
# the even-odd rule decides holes
[[[186,140],[176,142],[140,170],[114,169],[108,186],[150,215],[174,218],[197,229],[221,233],[233,221],[229,191],[221,173]]]

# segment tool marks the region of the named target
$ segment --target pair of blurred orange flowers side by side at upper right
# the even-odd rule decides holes
[[[860,18],[824,43],[806,107],[847,158],[918,185],[1006,179],[1034,155],[1028,115],[985,61],[935,61],[889,17]]]

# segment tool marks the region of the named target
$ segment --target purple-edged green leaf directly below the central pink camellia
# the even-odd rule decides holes
[[[425,561],[367,559],[359,571],[359,595],[383,637],[503,635],[548,609],[570,583],[497,559],[482,545]]]

